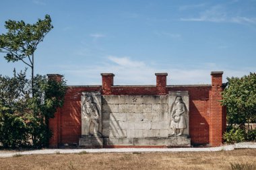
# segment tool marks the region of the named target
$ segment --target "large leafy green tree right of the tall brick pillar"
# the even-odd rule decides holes
[[[255,134],[249,130],[249,123],[256,122],[256,74],[227,79],[227,87],[222,92],[222,105],[227,110],[228,130],[232,130],[234,126],[238,126],[236,129],[245,129],[247,123],[247,138],[253,138],[249,137]]]

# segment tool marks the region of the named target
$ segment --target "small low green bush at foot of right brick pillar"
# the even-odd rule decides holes
[[[245,130],[232,128],[230,131],[223,134],[223,138],[228,144],[243,142],[245,141]]]

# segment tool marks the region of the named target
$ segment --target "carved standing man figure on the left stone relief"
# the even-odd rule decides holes
[[[82,107],[82,114],[85,119],[85,135],[88,136],[90,134],[90,126],[92,126],[94,130],[93,135],[98,136],[99,113],[96,103],[93,102],[92,96],[86,97]]]

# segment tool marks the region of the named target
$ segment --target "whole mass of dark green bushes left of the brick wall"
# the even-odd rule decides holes
[[[25,73],[13,77],[0,75],[0,142],[3,147],[48,146],[51,131],[49,118],[63,105],[65,81],[34,77],[34,97],[31,82]],[[32,140],[32,141],[31,141]]]

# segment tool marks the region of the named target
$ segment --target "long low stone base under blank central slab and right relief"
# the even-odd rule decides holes
[[[188,136],[169,136],[168,138],[104,138],[104,146],[170,146],[190,147]]]

